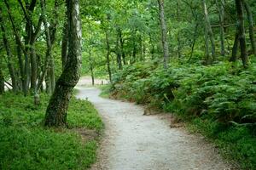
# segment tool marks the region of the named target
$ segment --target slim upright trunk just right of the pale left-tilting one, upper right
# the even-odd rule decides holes
[[[216,0],[218,6],[218,18],[219,18],[219,31],[220,31],[220,47],[222,56],[225,56],[225,46],[224,46],[224,0],[221,0],[220,4]]]

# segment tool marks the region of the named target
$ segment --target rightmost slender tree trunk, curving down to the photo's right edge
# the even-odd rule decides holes
[[[243,4],[245,10],[247,11],[247,20],[249,22],[250,40],[251,40],[251,44],[252,44],[252,48],[253,48],[253,55],[256,56],[256,42],[255,42],[254,31],[253,31],[253,29],[254,29],[253,13],[252,13],[252,10],[246,0],[241,0],[241,3]]]

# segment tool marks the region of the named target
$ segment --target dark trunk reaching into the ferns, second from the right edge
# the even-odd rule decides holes
[[[236,11],[237,11],[237,18],[238,18],[238,39],[240,42],[240,49],[241,49],[241,60],[242,65],[247,67],[247,42],[245,37],[245,28],[244,28],[244,17],[243,17],[243,10],[241,0],[236,0]]]

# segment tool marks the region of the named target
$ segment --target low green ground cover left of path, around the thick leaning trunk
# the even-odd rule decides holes
[[[68,128],[42,125],[49,97],[0,95],[0,169],[86,169],[96,161],[96,139],[83,140],[76,128],[102,131],[102,121],[88,101],[71,99]]]

